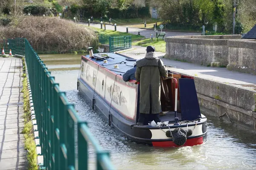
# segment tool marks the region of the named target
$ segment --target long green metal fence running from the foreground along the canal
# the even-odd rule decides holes
[[[29,75],[28,87],[32,92],[41,154],[44,156],[41,169],[87,170],[88,143],[91,143],[96,152],[97,169],[114,170],[109,153],[101,149],[87,123],[79,119],[74,105],[68,102],[65,92],[60,90],[55,78],[28,40],[23,41]]]

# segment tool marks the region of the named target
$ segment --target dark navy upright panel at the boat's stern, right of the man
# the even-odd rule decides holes
[[[180,108],[182,120],[195,120],[201,117],[194,79],[179,79]]]

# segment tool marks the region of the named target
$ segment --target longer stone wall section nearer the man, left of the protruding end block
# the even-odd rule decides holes
[[[166,57],[201,65],[227,65],[230,39],[241,35],[166,37]]]

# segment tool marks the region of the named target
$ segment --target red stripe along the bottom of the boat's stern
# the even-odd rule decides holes
[[[198,144],[204,143],[203,141],[203,136],[199,138],[192,138],[192,139],[187,139],[186,143],[182,146],[177,146],[174,142],[172,141],[165,141],[165,142],[152,142],[153,146],[160,146],[160,147],[183,147],[183,146],[195,146]]]

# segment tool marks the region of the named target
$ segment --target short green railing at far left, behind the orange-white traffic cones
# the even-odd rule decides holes
[[[1,49],[1,54],[3,49],[5,54],[9,54],[9,51],[11,49],[12,54],[24,56],[25,55],[25,39],[15,38],[15,39],[0,40],[0,49]]]

